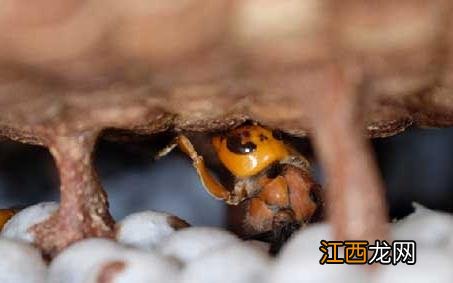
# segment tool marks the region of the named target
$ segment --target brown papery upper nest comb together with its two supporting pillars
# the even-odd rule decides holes
[[[386,208],[366,137],[453,123],[451,1],[2,5],[0,135],[49,148],[60,172],[60,208],[34,227],[48,254],[113,235],[91,160],[106,129],[253,119],[308,135],[336,236],[374,240],[386,236]]]

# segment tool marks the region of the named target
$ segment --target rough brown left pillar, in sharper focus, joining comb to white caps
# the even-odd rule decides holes
[[[48,220],[33,227],[36,244],[55,255],[89,237],[112,237],[114,221],[93,166],[97,132],[54,136],[49,149],[60,176],[60,206]]]

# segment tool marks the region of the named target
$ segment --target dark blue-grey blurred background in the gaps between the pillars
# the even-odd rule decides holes
[[[409,214],[413,201],[453,212],[451,145],[453,128],[409,129],[373,140],[392,218]],[[156,145],[143,141],[99,141],[95,164],[113,216],[119,220],[152,209],[173,213],[193,225],[225,226],[226,206],[205,193],[190,161],[177,151],[154,161],[152,146]],[[322,176],[319,170],[316,173]],[[58,176],[48,151],[0,141],[0,207],[48,200],[58,200]]]

